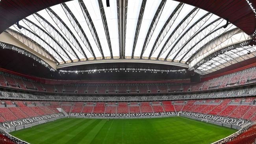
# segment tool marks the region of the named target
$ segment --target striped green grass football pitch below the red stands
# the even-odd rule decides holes
[[[184,117],[62,118],[10,133],[31,144],[209,144],[236,130]]]

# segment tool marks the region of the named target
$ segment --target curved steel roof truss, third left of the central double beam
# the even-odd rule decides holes
[[[83,44],[85,44],[87,50],[93,55],[94,59],[96,59],[95,54],[93,52],[93,48],[91,47],[91,44],[90,44],[87,36],[85,35],[85,32],[83,31],[82,26],[80,25],[80,23],[78,22],[78,20],[72,13],[72,11],[70,11],[69,7],[65,3],[62,3],[61,7],[62,7],[63,11],[65,12],[65,14],[67,15],[67,17],[69,18],[70,23],[72,24],[74,30],[76,31],[76,33],[82,40]],[[82,48],[82,52],[86,56],[85,52],[83,51],[83,48]]]

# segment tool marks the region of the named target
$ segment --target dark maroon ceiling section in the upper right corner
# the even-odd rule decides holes
[[[209,11],[219,17],[228,18],[248,35],[256,30],[256,17],[246,0],[177,0]],[[250,0],[256,7],[256,0]]]

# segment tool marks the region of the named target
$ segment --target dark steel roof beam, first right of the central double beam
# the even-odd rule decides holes
[[[132,47],[132,59],[134,58],[134,50],[135,50],[137,40],[139,37],[139,30],[141,28],[141,22],[142,22],[144,10],[145,10],[146,2],[147,2],[147,0],[142,0],[142,2],[141,2],[141,9],[139,11],[139,17],[138,17],[138,21],[137,21],[135,36],[134,36],[134,45]]]

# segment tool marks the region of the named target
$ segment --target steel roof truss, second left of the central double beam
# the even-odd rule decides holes
[[[98,37],[98,34],[96,32],[96,29],[95,29],[95,26],[93,24],[93,20],[91,19],[91,16],[83,2],[83,0],[78,0],[79,2],[79,5],[80,5],[80,8],[82,10],[82,13],[83,13],[83,16],[85,18],[85,21],[91,31],[91,35],[93,36],[93,39],[98,47],[98,50],[100,51],[100,54],[102,55],[103,59],[105,59],[104,57],[104,54],[103,54],[103,51],[102,51],[102,47],[101,47],[101,44],[100,44],[100,39]]]

